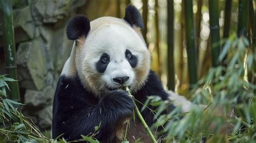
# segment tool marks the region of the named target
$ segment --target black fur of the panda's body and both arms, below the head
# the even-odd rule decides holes
[[[158,95],[162,99],[168,96],[153,71],[143,88],[134,93],[134,97],[141,103],[150,95]],[[109,91],[104,98],[99,99],[83,88],[78,77],[65,76],[59,78],[53,105],[52,138],[64,133],[63,138],[69,141],[80,139],[81,134],[93,133],[95,126],[101,124],[96,138],[99,141],[115,142],[117,139],[111,133],[118,131],[119,120],[129,117],[133,108],[132,100],[125,91]],[[142,115],[147,124],[151,125],[152,112],[145,109]],[[102,118],[96,120],[97,117]]]

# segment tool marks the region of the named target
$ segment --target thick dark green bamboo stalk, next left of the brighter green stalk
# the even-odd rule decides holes
[[[190,88],[197,83],[197,64],[196,64],[196,30],[194,29],[193,21],[193,3],[185,1],[185,31],[186,31],[186,48],[187,48],[187,63],[188,77]]]

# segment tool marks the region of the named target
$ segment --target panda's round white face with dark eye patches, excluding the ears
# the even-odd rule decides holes
[[[76,68],[84,87],[99,96],[122,86],[139,90],[150,70],[142,37],[125,22],[91,26],[85,42],[76,49]]]

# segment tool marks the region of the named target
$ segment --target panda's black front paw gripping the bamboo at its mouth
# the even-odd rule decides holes
[[[107,92],[102,101],[100,101],[100,106],[120,118],[132,117],[132,110],[134,108],[132,98],[126,91],[122,90]]]

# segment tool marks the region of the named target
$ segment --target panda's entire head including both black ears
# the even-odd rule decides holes
[[[150,70],[150,54],[141,28],[140,13],[131,5],[123,19],[101,17],[89,22],[82,15],[70,19],[67,36],[76,42],[69,60],[73,60],[71,64],[75,64],[87,90],[100,96],[123,86],[134,92],[143,86]]]

